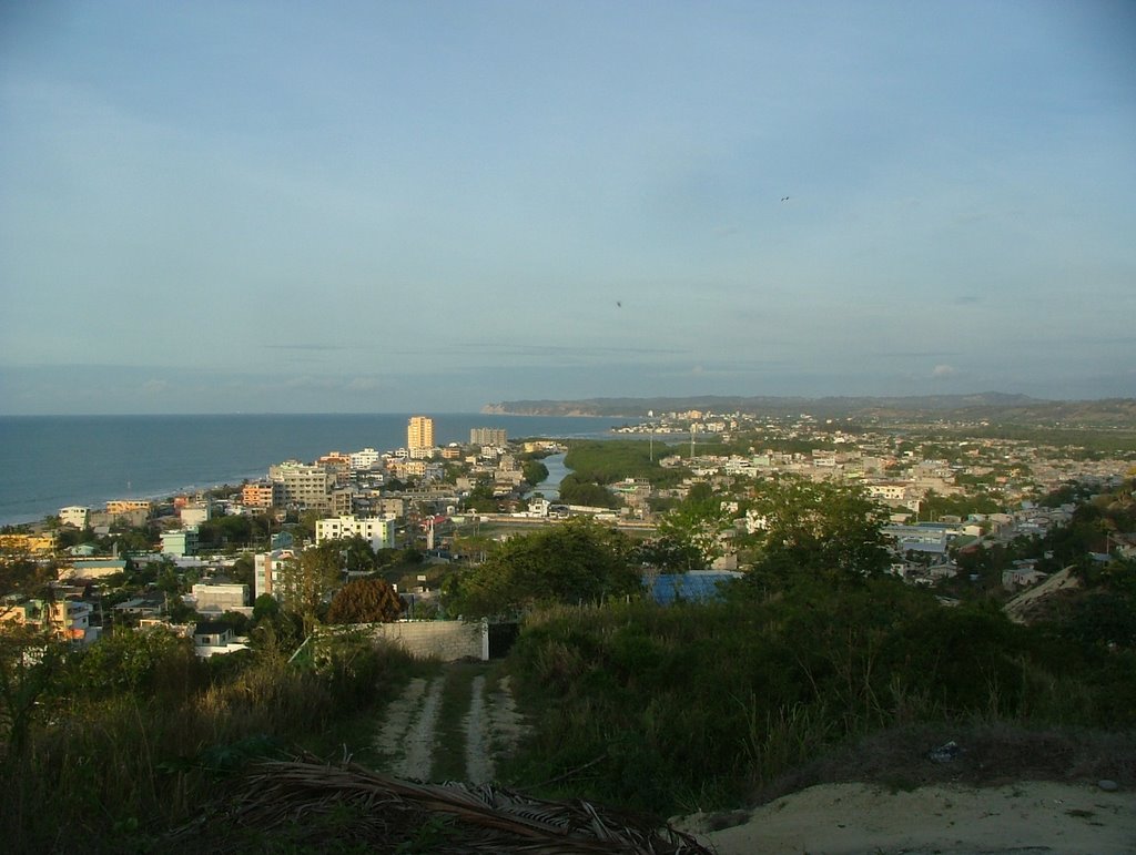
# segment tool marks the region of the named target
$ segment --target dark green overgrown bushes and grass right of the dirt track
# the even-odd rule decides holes
[[[1136,727],[1131,647],[943,607],[889,578],[550,609],[510,665],[541,722],[517,781],[659,815],[736,805],[888,728]]]

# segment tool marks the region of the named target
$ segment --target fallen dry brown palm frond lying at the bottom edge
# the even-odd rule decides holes
[[[214,852],[709,853],[669,827],[583,800],[546,802],[491,785],[428,785],[353,763],[267,762],[254,766],[224,810],[169,843]]]

